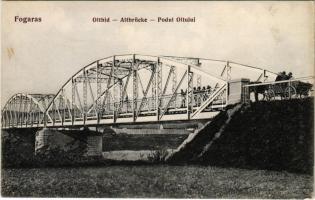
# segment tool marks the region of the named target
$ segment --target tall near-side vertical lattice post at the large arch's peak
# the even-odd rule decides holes
[[[138,100],[138,63],[136,63],[136,57],[133,55],[132,62],[132,116],[133,121],[136,121],[137,100]]]

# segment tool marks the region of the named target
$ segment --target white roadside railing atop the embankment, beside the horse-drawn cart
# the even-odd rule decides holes
[[[243,86],[242,101],[273,101],[314,96],[314,76]]]

